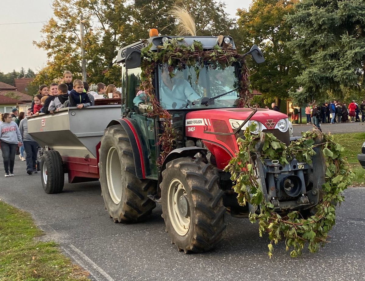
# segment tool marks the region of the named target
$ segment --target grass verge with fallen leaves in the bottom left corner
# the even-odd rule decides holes
[[[89,280],[56,243],[38,241],[41,235],[29,213],[0,201],[1,281]]]

